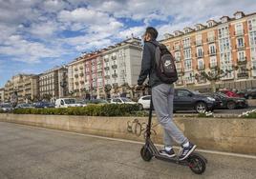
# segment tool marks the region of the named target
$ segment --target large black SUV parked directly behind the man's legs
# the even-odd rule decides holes
[[[175,89],[174,111],[195,109],[199,113],[204,113],[214,110],[216,106],[216,100],[209,95],[189,89]]]

